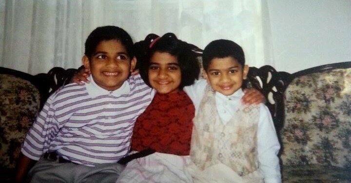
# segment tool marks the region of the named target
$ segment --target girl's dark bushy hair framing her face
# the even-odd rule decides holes
[[[149,48],[151,43],[153,44],[151,48]],[[141,44],[144,46],[140,46]],[[135,46],[136,45],[137,47],[135,48],[139,48],[139,52],[135,50],[139,62],[138,69],[140,70],[141,77],[147,85],[150,86],[148,78],[150,58],[156,52],[168,53],[176,56],[181,73],[179,89],[194,84],[195,79],[198,79],[200,67],[196,59],[196,54],[192,51],[192,46],[177,39],[176,35],[173,33],[167,33],[158,39],[156,39],[155,35],[149,35],[145,38],[144,42],[140,41],[136,43]],[[140,49],[140,47],[143,47],[143,49]],[[140,53],[140,51],[142,53]]]

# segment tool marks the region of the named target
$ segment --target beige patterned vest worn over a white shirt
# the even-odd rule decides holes
[[[224,164],[240,177],[255,172],[258,169],[258,120],[258,106],[240,105],[234,117],[224,125],[217,113],[215,92],[207,86],[194,118],[191,160],[200,170]],[[261,180],[257,172],[249,176]]]

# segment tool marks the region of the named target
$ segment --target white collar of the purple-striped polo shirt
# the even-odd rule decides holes
[[[87,89],[89,95],[92,98],[95,98],[95,97],[101,96],[101,95],[106,95],[106,94],[111,94],[115,97],[119,97],[122,94],[128,94],[130,92],[128,81],[124,81],[122,86],[114,91],[107,91],[107,90],[99,87],[98,84],[95,83],[92,75],[89,76],[89,81],[90,81],[90,83],[85,83],[85,88]]]

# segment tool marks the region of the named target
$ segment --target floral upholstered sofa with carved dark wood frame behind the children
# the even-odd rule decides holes
[[[1,183],[11,182],[36,113],[76,71],[56,67],[30,75],[0,67]],[[292,74],[250,67],[243,88],[266,97],[282,146],[283,183],[351,183],[351,62]]]

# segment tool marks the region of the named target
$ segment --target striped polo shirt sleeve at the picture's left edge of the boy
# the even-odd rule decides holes
[[[39,160],[49,149],[50,142],[59,131],[59,122],[55,117],[53,100],[50,96],[43,109],[39,112],[32,127],[27,132],[21,152],[30,159]]]

